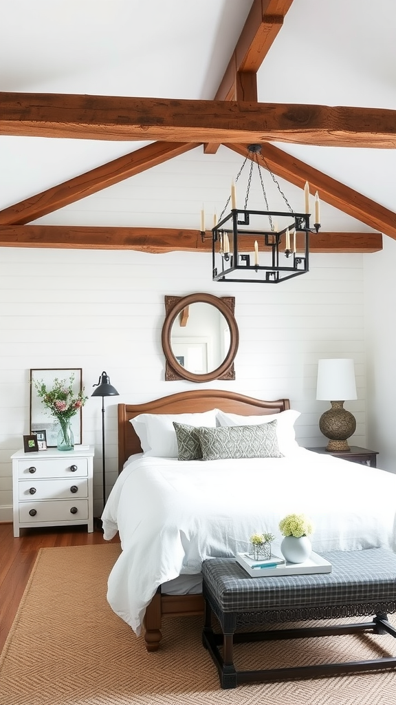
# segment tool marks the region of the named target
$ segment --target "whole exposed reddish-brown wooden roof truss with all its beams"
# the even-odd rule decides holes
[[[0,94],[0,134],[89,140],[158,140],[0,212],[0,245],[129,247],[149,252],[207,250],[194,231],[159,228],[29,226],[27,223],[125,178],[204,146],[242,156],[263,145],[262,166],[396,239],[396,214],[269,142],[395,149],[396,111],[257,101],[256,73],[292,0],[254,0],[214,101],[63,94]],[[373,252],[380,233],[319,233],[317,252]]]

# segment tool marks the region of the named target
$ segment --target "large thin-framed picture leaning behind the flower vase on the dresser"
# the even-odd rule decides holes
[[[77,395],[82,390],[82,368],[59,368],[59,369],[31,369],[30,370],[30,433],[37,431],[46,432],[46,445],[48,448],[56,448],[58,431],[61,428],[58,419],[51,416],[49,409],[42,403],[42,398],[37,394],[36,384],[45,384],[47,389],[54,386],[56,379],[66,380],[69,384],[73,377],[73,392]],[[74,442],[81,443],[82,439],[82,410],[70,418],[73,431]]]

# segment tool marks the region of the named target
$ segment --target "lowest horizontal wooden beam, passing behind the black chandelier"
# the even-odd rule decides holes
[[[255,236],[250,243],[254,250]],[[89,226],[0,226],[0,247],[56,247],[80,250],[141,250],[142,252],[211,252],[211,231],[202,242],[196,230]],[[310,252],[378,252],[381,233],[311,235]]]

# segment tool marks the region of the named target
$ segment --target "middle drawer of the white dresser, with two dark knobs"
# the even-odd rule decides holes
[[[88,480],[84,477],[70,479],[20,480],[18,483],[20,501],[37,501],[39,499],[76,499],[88,496]]]

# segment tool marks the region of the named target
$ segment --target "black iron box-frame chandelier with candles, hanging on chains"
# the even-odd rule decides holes
[[[237,281],[277,284],[309,271],[309,233],[318,233],[320,225],[320,203],[318,192],[314,201],[314,229],[309,225],[310,195],[309,185],[305,184],[305,213],[292,211],[285,194],[262,157],[271,178],[285,201],[287,211],[271,211],[268,208],[264,180],[258,155],[261,145],[249,145],[249,155],[231,185],[231,193],[212,229],[212,271],[214,281]],[[236,204],[237,180],[250,159],[245,207],[238,209]],[[248,209],[249,191],[256,164],[264,195],[265,211]],[[228,204],[231,208],[225,214]],[[204,211],[201,214],[201,235],[205,238]]]

